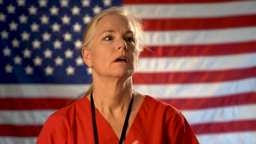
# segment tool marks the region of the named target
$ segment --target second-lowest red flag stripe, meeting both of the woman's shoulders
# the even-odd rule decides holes
[[[256,92],[209,98],[158,98],[179,110],[256,104]],[[1,98],[0,110],[50,110],[67,105],[72,98]],[[75,99],[73,99],[75,101]]]

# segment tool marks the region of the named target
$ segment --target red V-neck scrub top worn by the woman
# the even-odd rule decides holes
[[[108,122],[95,109],[99,144],[118,144]],[[146,96],[125,137],[125,144],[199,144],[176,108]],[[83,97],[50,115],[36,144],[94,144],[91,104]]]

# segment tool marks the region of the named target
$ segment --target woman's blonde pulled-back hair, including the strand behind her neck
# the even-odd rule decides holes
[[[126,7],[110,7],[106,10],[103,10],[102,12],[98,13],[87,25],[84,37],[83,37],[83,48],[90,49],[90,44],[92,39],[95,36],[96,33],[96,27],[99,22],[104,16],[108,16],[111,14],[119,14],[122,16],[125,16],[128,21],[131,22],[131,25],[134,28],[135,33],[135,44],[136,47],[139,49],[139,53],[143,51],[143,46],[139,45],[139,42],[144,39],[144,32],[143,32],[143,25],[142,21],[139,17],[132,15],[128,8]],[[89,95],[93,90],[93,85],[89,87],[87,92],[82,93],[79,97]]]

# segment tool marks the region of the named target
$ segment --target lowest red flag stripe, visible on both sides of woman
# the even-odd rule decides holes
[[[190,125],[195,134],[216,134],[238,131],[255,131],[256,120],[229,121]],[[36,137],[42,126],[0,125],[0,136]]]

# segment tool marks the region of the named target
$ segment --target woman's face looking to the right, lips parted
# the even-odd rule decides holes
[[[130,77],[137,68],[138,54],[134,28],[125,16],[112,14],[99,20],[90,49],[93,73]]]

